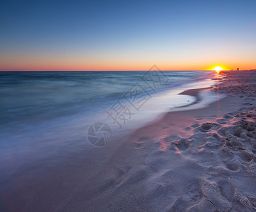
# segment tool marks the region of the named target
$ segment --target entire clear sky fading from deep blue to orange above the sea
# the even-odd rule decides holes
[[[255,0],[0,0],[0,70],[256,69],[255,8]]]

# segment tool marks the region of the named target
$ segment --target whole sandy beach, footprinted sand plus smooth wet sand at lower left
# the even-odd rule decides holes
[[[256,71],[219,75],[180,93],[192,104],[106,146],[85,153],[74,136],[71,151],[1,175],[0,210],[255,211]],[[226,97],[194,108],[205,91]]]

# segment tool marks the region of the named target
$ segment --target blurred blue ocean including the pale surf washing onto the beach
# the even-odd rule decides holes
[[[76,144],[93,151],[88,141],[92,124],[107,124],[112,139],[124,136],[164,112],[191,105],[196,99],[179,93],[213,85],[212,73],[0,72],[0,155],[2,161],[8,160],[1,167],[17,167],[31,158],[69,151]],[[206,107],[218,98],[202,93],[202,101],[193,107]]]

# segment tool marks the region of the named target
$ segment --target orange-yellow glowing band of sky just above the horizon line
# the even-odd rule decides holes
[[[51,56],[51,57],[50,57]],[[173,59],[134,59],[134,58],[115,58],[115,57],[68,57],[61,55],[33,55],[20,54],[16,57],[11,55],[3,55],[0,59],[1,71],[148,71],[153,64],[162,71],[204,71],[215,70],[221,67],[221,70],[240,70],[255,69],[256,63],[252,61],[244,61],[238,64],[234,61],[227,61],[228,66],[216,64],[214,61],[183,61]],[[215,64],[209,66],[209,64]],[[208,66],[208,68],[207,68]],[[232,68],[231,68],[232,67]]]

